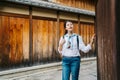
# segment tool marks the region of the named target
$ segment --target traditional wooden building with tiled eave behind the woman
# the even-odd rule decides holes
[[[57,51],[65,20],[85,44],[95,33],[94,0],[0,1],[0,68],[60,61]],[[95,56],[93,50],[82,57]]]

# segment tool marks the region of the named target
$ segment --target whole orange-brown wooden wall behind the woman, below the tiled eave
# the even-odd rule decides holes
[[[94,33],[94,17],[36,7],[23,10],[22,5],[17,5],[18,10],[26,11],[21,14],[17,6],[14,9],[11,5],[4,5],[0,5],[0,70],[61,61],[58,42],[64,34],[65,20],[73,21],[74,32],[83,37],[85,44]],[[14,9],[14,13],[7,7]],[[93,56],[93,52],[82,57]]]

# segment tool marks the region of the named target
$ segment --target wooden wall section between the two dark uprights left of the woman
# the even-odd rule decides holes
[[[33,60],[56,61],[57,21],[33,19]]]

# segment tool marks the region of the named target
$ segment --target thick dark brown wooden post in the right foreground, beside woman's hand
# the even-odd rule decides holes
[[[120,56],[116,56],[120,53],[119,3],[119,0],[97,0],[98,80],[120,80]]]

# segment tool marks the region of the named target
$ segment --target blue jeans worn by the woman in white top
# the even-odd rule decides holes
[[[78,80],[80,70],[80,57],[63,57],[62,58],[62,80]]]

